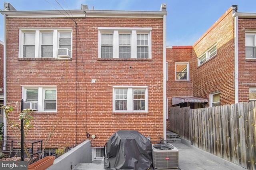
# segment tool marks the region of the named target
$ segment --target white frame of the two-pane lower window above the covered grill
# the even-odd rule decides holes
[[[127,89],[127,111],[116,110],[115,89]],[[134,110],[133,90],[145,90],[145,110]],[[148,113],[148,86],[113,86],[113,112],[114,113]]]

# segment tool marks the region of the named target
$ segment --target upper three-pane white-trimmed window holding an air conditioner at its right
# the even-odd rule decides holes
[[[19,58],[70,58],[72,28],[21,28]]]

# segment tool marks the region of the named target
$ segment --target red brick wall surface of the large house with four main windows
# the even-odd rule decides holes
[[[74,144],[95,134],[92,146],[104,146],[117,130],[138,130],[151,140],[163,137],[163,20],[135,18],[7,18],[7,103],[20,101],[22,85],[56,85],[57,113],[33,114],[30,140],[46,140],[60,120],[48,147]],[[18,59],[18,28],[73,28],[72,60]],[[152,59],[99,60],[98,27],[151,27]],[[77,63],[76,63],[77,62]],[[77,65],[77,69],[76,69]],[[130,69],[130,66],[132,69]],[[77,72],[77,75],[76,75]],[[91,83],[96,79],[96,83]],[[148,86],[148,113],[112,113],[114,85]],[[77,94],[77,95],[76,95]],[[15,108],[18,109],[18,108]],[[17,119],[18,111],[12,114]],[[8,136],[14,138],[10,129]],[[90,137],[90,139],[92,139]]]

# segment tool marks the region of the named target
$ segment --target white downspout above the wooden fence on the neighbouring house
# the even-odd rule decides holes
[[[234,17],[235,103],[238,103],[238,16]]]

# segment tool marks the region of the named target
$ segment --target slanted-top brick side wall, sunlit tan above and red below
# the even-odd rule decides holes
[[[232,8],[193,45],[193,95],[209,100],[220,92],[220,105],[234,103],[234,22]],[[217,55],[198,66],[197,58],[217,44]],[[206,105],[209,106],[209,105]]]

